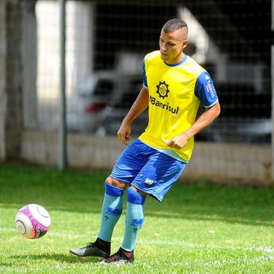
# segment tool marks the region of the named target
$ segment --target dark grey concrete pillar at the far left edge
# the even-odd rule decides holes
[[[20,154],[21,15],[20,0],[0,1],[0,159]]]

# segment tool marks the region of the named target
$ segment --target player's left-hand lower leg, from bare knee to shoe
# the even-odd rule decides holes
[[[95,243],[87,243],[86,247],[70,250],[72,254],[80,257],[110,256],[110,242],[113,229],[122,214],[123,194],[126,183],[108,177],[105,183],[105,197],[101,212],[101,227]]]

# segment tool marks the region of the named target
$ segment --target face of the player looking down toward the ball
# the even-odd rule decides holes
[[[187,29],[177,29],[171,33],[161,31],[159,40],[161,59],[175,64],[182,59],[182,50],[187,46]]]

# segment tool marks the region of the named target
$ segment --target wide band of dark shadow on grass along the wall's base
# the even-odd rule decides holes
[[[0,166],[0,207],[38,203],[50,210],[101,214],[106,171]],[[126,195],[124,195],[126,196]],[[162,203],[147,199],[146,216],[274,226],[274,189],[176,183]],[[126,203],[126,197],[124,197]]]

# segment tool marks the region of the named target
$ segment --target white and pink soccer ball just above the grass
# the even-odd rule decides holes
[[[31,203],[18,210],[15,227],[26,238],[40,238],[50,229],[50,215],[43,206]]]

